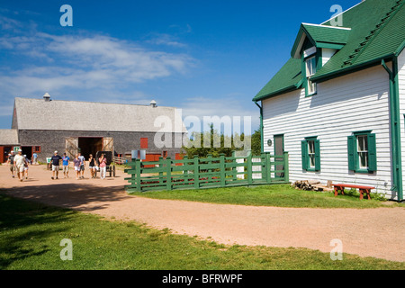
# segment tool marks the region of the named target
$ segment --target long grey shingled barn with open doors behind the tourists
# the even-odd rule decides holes
[[[49,94],[40,99],[16,97],[12,129],[0,130],[0,160],[4,162],[16,147],[29,158],[36,152],[42,162],[55,150],[69,157],[80,152],[85,158],[101,150],[122,157],[131,150],[145,150],[146,160],[179,157],[182,151],[175,139],[187,133],[179,115],[178,109],[154,101],[136,105],[52,100]],[[158,117],[167,123],[156,125]],[[155,145],[155,135],[162,130],[162,138],[169,135],[172,145]]]

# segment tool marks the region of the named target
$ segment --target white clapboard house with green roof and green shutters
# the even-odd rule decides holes
[[[289,152],[290,181],[374,185],[403,200],[405,0],[365,0],[302,23],[291,58],[253,99],[262,148]]]

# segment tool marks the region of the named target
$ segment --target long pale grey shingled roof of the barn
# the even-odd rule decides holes
[[[13,128],[18,130],[171,132],[174,127],[175,132],[186,132],[174,107],[16,97],[14,109]]]

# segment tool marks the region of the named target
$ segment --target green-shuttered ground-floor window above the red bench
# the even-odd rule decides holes
[[[347,137],[348,169],[356,173],[377,171],[377,147],[371,130],[353,132]]]

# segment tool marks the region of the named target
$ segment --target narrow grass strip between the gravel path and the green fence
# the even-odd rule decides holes
[[[360,200],[359,193],[347,191],[346,195],[300,191],[289,184],[259,185],[251,187],[212,188],[200,190],[155,191],[131,193],[155,199],[185,200],[221,204],[254,206],[307,207],[307,208],[377,208],[405,207],[404,203],[387,202],[373,194],[372,200]]]

